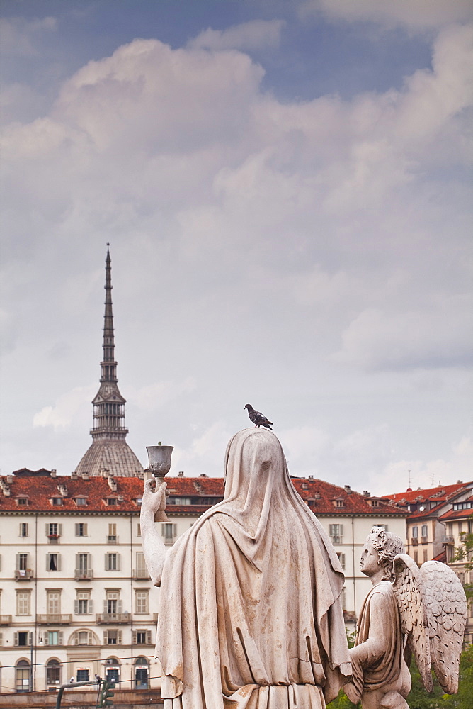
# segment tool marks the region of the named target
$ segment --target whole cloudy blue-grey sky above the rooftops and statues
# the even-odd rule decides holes
[[[222,474],[473,479],[468,0],[2,0],[1,472],[127,437]]]

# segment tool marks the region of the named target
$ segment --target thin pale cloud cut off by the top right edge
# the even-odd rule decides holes
[[[324,13],[346,21],[372,21],[414,30],[435,28],[472,18],[469,0],[308,0],[302,13]]]

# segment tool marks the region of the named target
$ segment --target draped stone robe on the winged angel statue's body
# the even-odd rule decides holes
[[[370,625],[376,625],[375,630]],[[379,635],[382,628],[383,652],[379,652],[379,642],[371,638]],[[358,632],[355,646],[366,643],[366,657],[363,661],[351,658],[353,678],[345,688],[348,698],[358,703],[362,693],[375,689],[392,688],[402,671],[404,637],[401,633],[401,619],[392,584],[382,581],[373,586],[365,598],[358,618]]]

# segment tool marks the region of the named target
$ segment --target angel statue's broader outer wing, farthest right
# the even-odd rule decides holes
[[[440,686],[448,694],[458,691],[467,599],[457,574],[441,562],[425,562],[421,576],[428,605],[431,659]]]

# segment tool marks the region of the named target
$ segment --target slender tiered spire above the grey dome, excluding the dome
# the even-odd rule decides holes
[[[115,362],[115,339],[113,337],[112,309],[112,259],[110,244],[107,244],[105,262],[105,315],[103,317],[103,358],[101,361],[101,384],[93,399],[93,429],[96,438],[125,439],[125,399],[117,384],[117,362]]]

